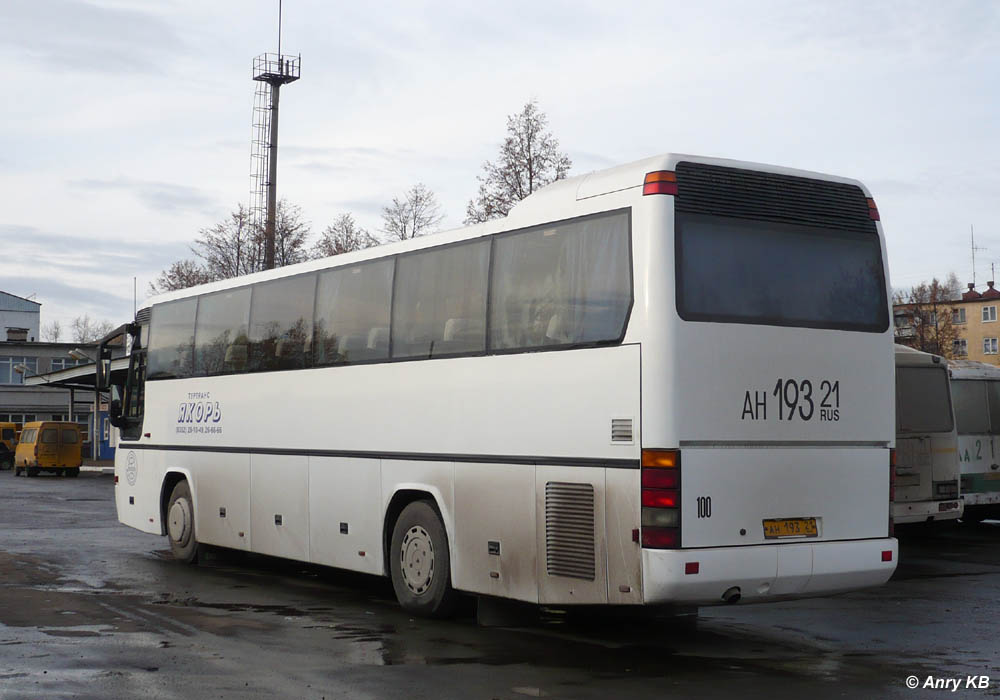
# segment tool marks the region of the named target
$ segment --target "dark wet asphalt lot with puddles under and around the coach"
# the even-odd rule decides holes
[[[878,589],[484,628],[471,602],[414,619],[384,579],[221,550],[184,566],[117,522],[111,476],[0,472],[0,698],[1000,696],[1000,523],[900,534]]]

